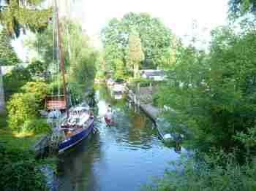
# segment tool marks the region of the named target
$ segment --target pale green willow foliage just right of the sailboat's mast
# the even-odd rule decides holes
[[[99,62],[99,53],[91,47],[89,36],[81,34],[81,31],[81,27],[74,24],[70,30],[68,82],[74,98],[84,98],[85,93],[92,89]]]

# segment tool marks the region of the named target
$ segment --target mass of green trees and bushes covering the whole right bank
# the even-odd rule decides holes
[[[151,190],[256,189],[255,1],[229,3],[239,20],[211,31],[208,52],[178,46],[169,80],[159,87],[158,104],[176,111],[165,116],[189,128],[196,149]]]

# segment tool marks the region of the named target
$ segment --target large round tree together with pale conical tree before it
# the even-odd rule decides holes
[[[176,36],[158,18],[129,12],[113,18],[102,30],[105,68],[117,77],[138,69],[166,68],[174,55]]]

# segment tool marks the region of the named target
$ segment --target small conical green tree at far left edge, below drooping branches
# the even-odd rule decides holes
[[[20,61],[12,47],[10,36],[8,36],[5,28],[0,33],[0,58],[0,66],[12,65]]]

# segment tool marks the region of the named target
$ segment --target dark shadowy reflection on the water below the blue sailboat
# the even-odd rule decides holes
[[[97,187],[97,177],[94,176],[93,163],[102,155],[99,135],[91,135],[89,139],[60,156],[59,190],[91,190]]]

